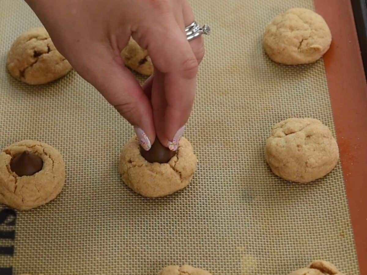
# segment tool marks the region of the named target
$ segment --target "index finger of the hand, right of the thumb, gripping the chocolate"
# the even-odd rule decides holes
[[[156,31],[148,51],[156,69],[164,74],[164,133],[157,133],[162,144],[178,139],[177,134],[187,122],[195,98],[198,61],[178,24],[170,23],[164,32]],[[157,39],[159,37],[159,39]],[[153,109],[155,103],[153,103]],[[177,148],[173,148],[174,150]]]

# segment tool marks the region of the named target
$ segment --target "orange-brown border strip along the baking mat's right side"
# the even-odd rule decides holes
[[[324,55],[360,274],[367,274],[367,84],[352,6],[314,0],[333,36]]]

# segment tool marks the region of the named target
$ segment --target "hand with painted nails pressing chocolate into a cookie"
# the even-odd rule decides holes
[[[172,141],[189,118],[204,56],[202,37],[186,40],[185,26],[194,21],[187,0],[26,2],[59,52],[134,126],[146,150],[156,135],[177,149]],[[148,49],[154,64],[143,88],[120,57],[130,36]]]

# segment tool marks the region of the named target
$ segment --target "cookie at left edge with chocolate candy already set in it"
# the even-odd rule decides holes
[[[65,184],[61,154],[46,143],[23,140],[0,153],[0,202],[28,210],[54,199]]]

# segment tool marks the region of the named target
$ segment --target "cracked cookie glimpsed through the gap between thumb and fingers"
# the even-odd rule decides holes
[[[127,46],[122,50],[121,56],[125,65],[130,69],[146,76],[153,74],[153,64],[148,51],[142,49],[131,37]]]

